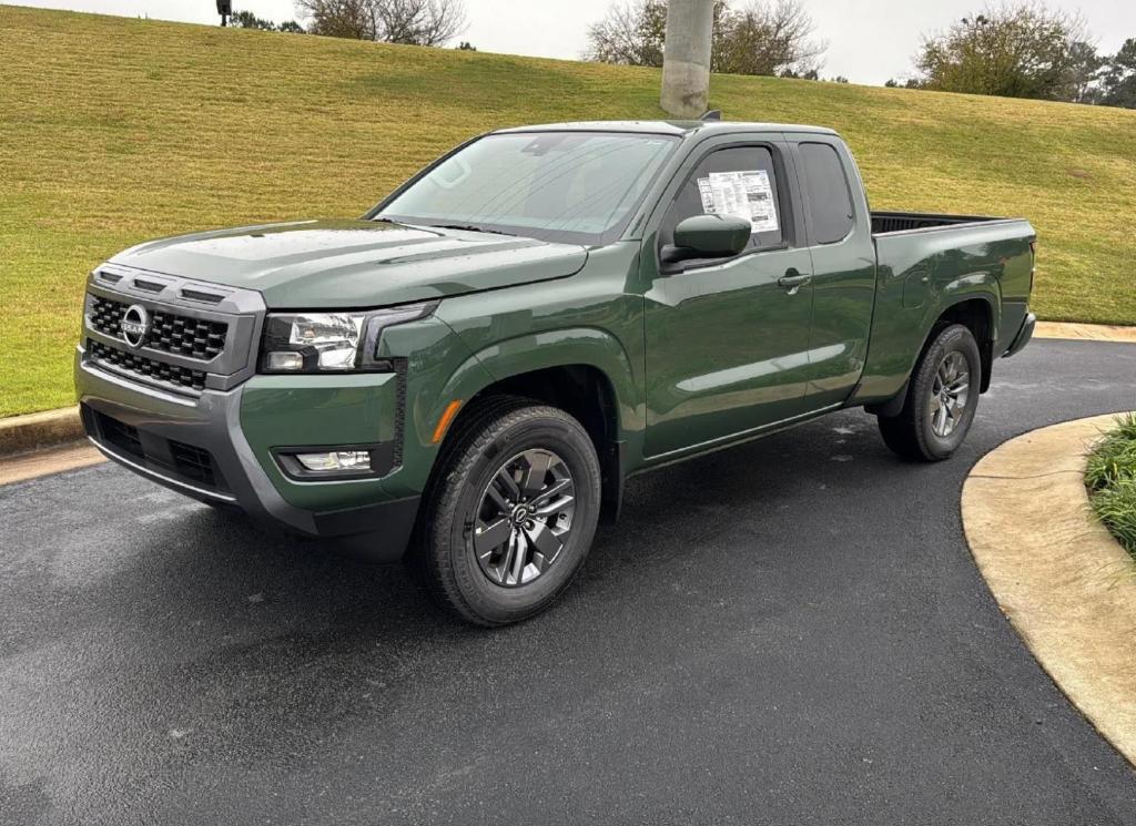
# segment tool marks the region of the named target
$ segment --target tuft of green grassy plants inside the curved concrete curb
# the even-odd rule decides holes
[[[1096,515],[1136,557],[1136,414],[1119,419],[1093,449],[1085,484]]]

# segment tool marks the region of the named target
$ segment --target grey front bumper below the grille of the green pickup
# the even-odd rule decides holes
[[[250,444],[242,425],[242,412],[248,414],[249,408],[244,404],[249,382],[183,396],[105,370],[91,363],[80,347],[75,386],[91,441],[108,458],[140,475],[202,502],[239,507],[250,516],[306,536],[373,534],[373,558],[394,559],[406,549],[418,497],[391,498],[377,479],[284,479],[270,455],[268,439],[282,438],[273,430],[272,421],[258,429],[256,445]],[[256,396],[256,388],[251,393]],[[259,404],[265,406],[264,397]],[[345,415],[352,412],[351,407],[344,410]],[[290,419],[294,418],[294,408],[292,413]],[[336,427],[334,413],[324,411],[320,415],[323,432],[343,432],[343,427]],[[257,423],[264,421],[258,419]],[[307,438],[296,433],[291,444],[312,441],[309,431]],[[286,437],[284,444],[289,444]]]

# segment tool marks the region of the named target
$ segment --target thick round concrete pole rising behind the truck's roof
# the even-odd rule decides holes
[[[662,48],[663,110],[676,118],[698,118],[710,92],[710,40],[715,0],[670,0]]]

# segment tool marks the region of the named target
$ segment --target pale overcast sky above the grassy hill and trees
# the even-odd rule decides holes
[[[735,0],[741,5],[744,0]],[[828,41],[826,76],[883,84],[911,71],[921,32],[935,31],[984,0],[801,0]],[[100,11],[131,17],[216,24],[216,0],[18,0],[20,6]],[[234,7],[274,20],[293,18],[292,0],[234,0]],[[587,25],[603,17],[611,0],[466,0],[469,28],[461,36],[482,51],[575,60]],[[1136,0],[1051,0],[1052,8],[1080,11],[1102,52],[1136,37]]]

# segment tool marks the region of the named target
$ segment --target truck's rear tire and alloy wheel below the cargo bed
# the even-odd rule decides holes
[[[877,416],[884,444],[910,462],[950,458],[975,420],[982,377],[970,330],[962,324],[937,328],[911,374],[903,408],[894,416]]]

